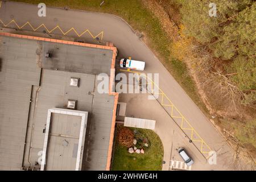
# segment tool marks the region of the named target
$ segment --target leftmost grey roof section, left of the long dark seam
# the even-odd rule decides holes
[[[31,89],[40,78],[36,46],[30,40],[0,37],[0,169],[22,166]]]

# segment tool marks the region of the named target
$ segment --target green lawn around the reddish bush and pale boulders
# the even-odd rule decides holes
[[[134,130],[134,128],[130,128]],[[157,134],[152,130],[135,129],[150,141],[150,146],[145,154],[129,154],[127,147],[115,142],[112,170],[162,170],[163,161],[163,145]]]

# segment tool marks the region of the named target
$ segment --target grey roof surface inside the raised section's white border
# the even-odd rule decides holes
[[[80,126],[79,116],[52,113],[46,170],[72,171],[76,168]]]

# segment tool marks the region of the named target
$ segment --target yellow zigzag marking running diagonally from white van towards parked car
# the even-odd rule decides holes
[[[187,121],[187,119],[180,113],[180,111],[176,108],[176,106],[174,104],[172,104],[171,100],[166,96],[166,94],[164,94],[163,90],[159,88],[158,85],[155,84],[154,81],[152,81],[151,78],[147,77],[145,74],[142,74],[142,73],[139,73],[139,72],[134,72],[134,71],[128,71],[128,70],[124,70],[124,69],[121,69],[121,71],[124,71],[124,72],[131,72],[131,73],[137,73],[137,75],[141,75],[141,76],[144,76],[148,79],[150,79],[150,83],[148,84],[151,84],[151,86],[153,86],[153,84],[160,90],[160,93],[158,94],[161,94],[162,95],[162,98],[161,98],[161,105],[162,106],[170,106],[171,107],[171,117],[172,118],[181,118],[182,121],[181,121],[181,125],[180,125],[180,128],[181,130],[191,130],[191,140],[193,142],[201,142],[201,146],[200,146],[200,152],[202,154],[209,154],[209,151],[211,151],[210,147],[208,146],[207,143],[205,143],[205,141],[200,137],[200,135],[197,133],[197,131],[195,129],[193,129],[193,127],[191,126],[191,124]],[[152,93],[154,94],[154,93]],[[169,104],[163,104],[163,99],[164,97],[166,98],[166,100],[169,101]],[[179,113],[180,117],[179,116],[174,116],[173,114],[173,111],[174,109],[177,111],[177,113]],[[187,123],[189,127],[191,128],[184,128],[183,127],[183,123]],[[196,140],[196,139],[193,139],[193,134],[195,134],[200,140]],[[206,146],[208,148],[208,151],[203,151],[203,146]]]

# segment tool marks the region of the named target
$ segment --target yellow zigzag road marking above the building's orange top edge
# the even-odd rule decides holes
[[[0,5],[1,5],[1,4],[0,4]],[[22,26],[19,26],[18,23],[16,23],[14,19],[11,20],[11,21],[10,21],[9,23],[7,23],[7,24],[3,23],[3,21],[0,19],[0,23],[2,23],[3,26],[5,26],[5,27],[9,26],[9,24],[11,24],[11,23],[14,23],[15,26],[19,28],[19,30],[21,30],[21,29],[22,29],[24,26],[26,26],[26,25],[30,26],[33,31],[36,31],[36,30],[38,30],[39,28],[43,27],[43,28],[45,28],[45,29],[47,30],[48,33],[51,33],[51,32],[53,32],[53,31],[55,31],[56,29],[59,29],[63,35],[67,35],[69,32],[74,31],[74,32],[76,33],[76,35],[79,36],[79,37],[82,36],[82,35],[84,35],[86,32],[88,32],[88,34],[89,34],[90,36],[92,36],[93,39],[95,39],[95,38],[97,38],[98,36],[100,36],[101,40],[103,39],[103,33],[104,33],[103,31],[101,31],[98,35],[93,36],[92,33],[87,29],[87,30],[83,31],[81,34],[79,34],[79,33],[76,31],[76,29],[73,28],[73,27],[70,28],[67,32],[64,32],[64,31],[60,28],[59,25],[57,25],[56,27],[52,28],[52,30],[49,30],[49,29],[44,25],[44,23],[40,24],[40,26],[38,26],[37,28],[34,28],[34,27],[30,24],[30,22],[24,23]]]

